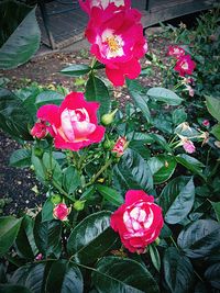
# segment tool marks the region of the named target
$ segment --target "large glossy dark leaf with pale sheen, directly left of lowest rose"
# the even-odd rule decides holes
[[[118,236],[110,227],[110,215],[107,211],[91,214],[72,230],[67,241],[72,259],[92,263],[112,247]]]

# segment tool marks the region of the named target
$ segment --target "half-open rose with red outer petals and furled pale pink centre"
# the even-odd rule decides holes
[[[98,125],[99,103],[87,102],[80,92],[69,93],[61,106],[48,104],[37,111],[37,117],[50,123],[48,132],[56,148],[78,150],[99,143],[105,127]]]

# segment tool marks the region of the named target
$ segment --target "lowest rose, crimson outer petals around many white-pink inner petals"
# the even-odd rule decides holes
[[[158,237],[163,224],[162,209],[142,190],[129,190],[125,203],[110,219],[124,247],[138,253],[145,252],[146,246]]]

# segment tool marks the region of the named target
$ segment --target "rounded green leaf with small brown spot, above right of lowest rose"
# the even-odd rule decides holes
[[[161,184],[167,181],[176,169],[176,161],[173,156],[158,155],[147,160],[153,174],[154,183]]]

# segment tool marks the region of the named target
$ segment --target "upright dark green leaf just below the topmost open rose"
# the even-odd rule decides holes
[[[89,79],[86,83],[86,99],[88,101],[97,101],[100,103],[99,114],[100,116],[110,111],[111,101],[107,86],[101,79],[89,75]]]

